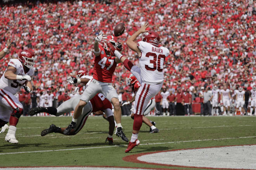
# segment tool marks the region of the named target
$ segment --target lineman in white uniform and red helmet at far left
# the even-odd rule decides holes
[[[0,79],[0,126],[9,122],[9,130],[5,136],[5,141],[18,143],[16,125],[22,115],[23,106],[14,95],[21,86],[26,92],[31,92],[31,76],[34,74],[36,57],[30,50],[22,50],[19,59],[10,59],[7,69]]]

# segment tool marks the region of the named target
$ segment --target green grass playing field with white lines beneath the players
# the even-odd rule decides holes
[[[125,162],[122,158],[150,151],[256,144],[256,117],[253,116],[149,119],[156,121],[160,133],[149,134],[149,127],[143,124],[139,133],[141,145],[125,153],[128,143],[121,138],[113,137],[115,146],[109,147],[105,143],[108,122],[101,116],[89,117],[83,129],[74,136],[52,133],[43,137],[40,136],[43,129],[52,123],[65,127],[71,117],[21,117],[16,132],[19,144],[4,141],[7,131],[0,134],[0,167],[82,165],[184,169]],[[131,137],[132,124],[130,117],[122,117],[122,126],[128,139]],[[67,150],[74,148],[80,149]],[[28,151],[40,152],[4,154]]]

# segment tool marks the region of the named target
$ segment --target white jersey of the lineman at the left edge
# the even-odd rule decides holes
[[[10,61],[8,63],[8,66],[12,66],[12,67],[16,68],[16,72],[14,73],[16,75],[32,76],[34,74],[33,69],[29,69],[28,73],[25,74],[22,63],[21,63],[21,61],[19,61],[19,59],[10,59]],[[27,80],[9,80],[9,79],[4,77],[4,73],[3,73],[3,75],[0,79],[0,88],[2,88],[3,90],[6,90],[6,91],[12,93],[13,95],[15,95],[19,91],[21,86],[23,86],[25,84],[25,82]]]

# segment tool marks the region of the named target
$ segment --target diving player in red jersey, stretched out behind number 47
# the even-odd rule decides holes
[[[83,78],[85,77],[85,78]],[[81,79],[79,76],[76,78],[79,82],[83,83],[84,85],[89,84],[92,80],[92,76],[82,76]],[[73,83],[72,81],[69,81],[70,83]],[[29,115],[33,116],[35,114],[46,112],[48,114],[52,114],[55,116],[61,116],[67,112],[71,112],[75,109],[76,105],[79,103],[81,98],[81,95],[76,95],[72,97],[71,99],[63,102],[59,107],[36,107],[29,111]],[[78,117],[77,120],[77,126],[74,129],[71,129],[70,133],[68,135],[75,135],[77,134],[85,125],[85,122],[90,115],[91,112],[97,112],[97,111],[104,111],[106,114],[106,119],[109,121],[109,134],[107,136],[106,141],[109,141],[109,144],[111,145],[113,143],[113,132],[115,128],[115,122],[114,122],[114,116],[112,112],[112,105],[109,100],[106,99],[106,97],[102,93],[97,93],[82,109],[82,114]],[[49,133],[61,133],[64,134],[66,128],[60,128],[55,126],[54,124],[50,125],[48,129],[44,129],[41,132],[41,136],[45,136]]]

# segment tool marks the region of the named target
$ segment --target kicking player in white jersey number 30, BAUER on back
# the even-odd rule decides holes
[[[140,144],[138,140],[138,132],[142,126],[142,116],[144,110],[149,103],[149,100],[154,97],[162,88],[164,74],[163,65],[164,59],[169,55],[169,50],[165,47],[158,47],[160,44],[160,37],[157,32],[147,31],[148,23],[144,24],[135,34],[128,38],[126,44],[130,49],[138,53],[139,64],[140,64],[140,77],[141,86],[135,96],[135,109],[134,121],[133,121],[133,132],[131,141],[128,144],[128,148],[125,152],[129,152],[135,146]],[[146,32],[146,33],[145,33]],[[145,33],[142,41],[138,43],[135,39],[141,34]],[[117,51],[114,54],[121,59],[123,56]],[[122,61],[122,60],[121,60]],[[125,61],[123,62],[124,65]],[[132,65],[132,63],[130,62]],[[129,62],[128,62],[129,65]],[[130,69],[131,73],[133,68]],[[133,75],[135,75],[133,73]]]

